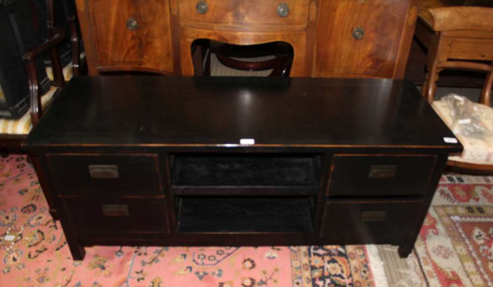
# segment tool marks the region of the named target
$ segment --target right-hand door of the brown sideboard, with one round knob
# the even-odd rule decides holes
[[[415,0],[320,1],[314,76],[402,78]]]

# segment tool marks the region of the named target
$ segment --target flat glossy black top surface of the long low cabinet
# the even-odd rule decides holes
[[[75,77],[23,146],[430,147],[452,132],[407,81]]]

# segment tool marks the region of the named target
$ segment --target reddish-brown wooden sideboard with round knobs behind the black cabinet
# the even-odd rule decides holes
[[[291,76],[402,78],[418,0],[77,0],[89,74],[193,75],[196,39],[285,41]]]

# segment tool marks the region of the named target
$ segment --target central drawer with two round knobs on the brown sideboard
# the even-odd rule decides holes
[[[309,0],[183,0],[180,21],[187,24],[305,26]]]

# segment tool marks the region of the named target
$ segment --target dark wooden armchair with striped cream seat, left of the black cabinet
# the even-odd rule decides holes
[[[65,85],[65,81],[72,76],[70,67],[62,69],[57,46],[66,38],[66,31],[62,28],[55,27],[55,12],[53,0],[46,0],[47,6],[47,27],[48,39],[35,47],[32,51],[24,55],[24,63],[28,72],[29,82],[29,111],[19,119],[0,119],[0,154],[6,155],[9,153],[23,153],[20,146],[27,137],[29,131],[37,124],[44,110],[48,107],[51,99],[60,92],[60,88]],[[73,27],[76,23],[76,18],[71,16],[71,40],[72,40],[72,61],[75,60],[73,69],[74,74],[79,73],[81,66],[80,55],[78,52],[78,36],[77,29]],[[76,42],[76,44],[74,44]],[[44,95],[39,93],[37,74],[35,69],[35,61],[45,52],[50,52],[51,72],[48,71],[48,76],[52,78],[52,87]],[[73,56],[73,53],[77,53]]]

